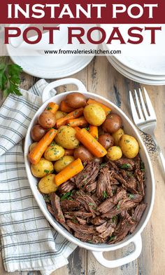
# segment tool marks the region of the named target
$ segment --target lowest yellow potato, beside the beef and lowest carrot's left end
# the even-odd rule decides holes
[[[50,194],[52,192],[56,192],[57,185],[55,185],[55,175],[45,175],[39,182],[38,182],[38,189],[43,194]]]

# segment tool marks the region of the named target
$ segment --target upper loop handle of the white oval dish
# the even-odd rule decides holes
[[[78,80],[78,79],[59,79],[57,81],[53,81],[50,82],[45,89],[43,90],[43,94],[42,94],[42,101],[43,103],[47,100],[49,100],[50,98],[52,98],[52,96],[57,94],[57,90],[55,90],[55,88],[62,86],[62,85],[67,85],[67,84],[74,84],[78,87],[78,91],[79,92],[87,92],[87,89],[85,88],[84,84]],[[54,89],[54,95],[51,95],[50,91]]]

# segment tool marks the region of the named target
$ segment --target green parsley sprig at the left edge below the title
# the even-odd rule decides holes
[[[20,73],[22,67],[17,64],[0,63],[0,90],[3,91],[3,96],[6,97],[9,93],[22,95],[18,88],[20,84]]]

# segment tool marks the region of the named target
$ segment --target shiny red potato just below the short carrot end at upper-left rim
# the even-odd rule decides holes
[[[38,117],[38,123],[46,129],[52,128],[55,126],[56,123],[56,117],[55,114],[52,114],[49,111],[44,111],[39,117]]]

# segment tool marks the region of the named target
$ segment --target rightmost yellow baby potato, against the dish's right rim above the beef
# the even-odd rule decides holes
[[[134,159],[139,151],[138,142],[135,137],[131,135],[122,135],[119,140],[119,146],[122,149],[122,153],[129,159]]]

